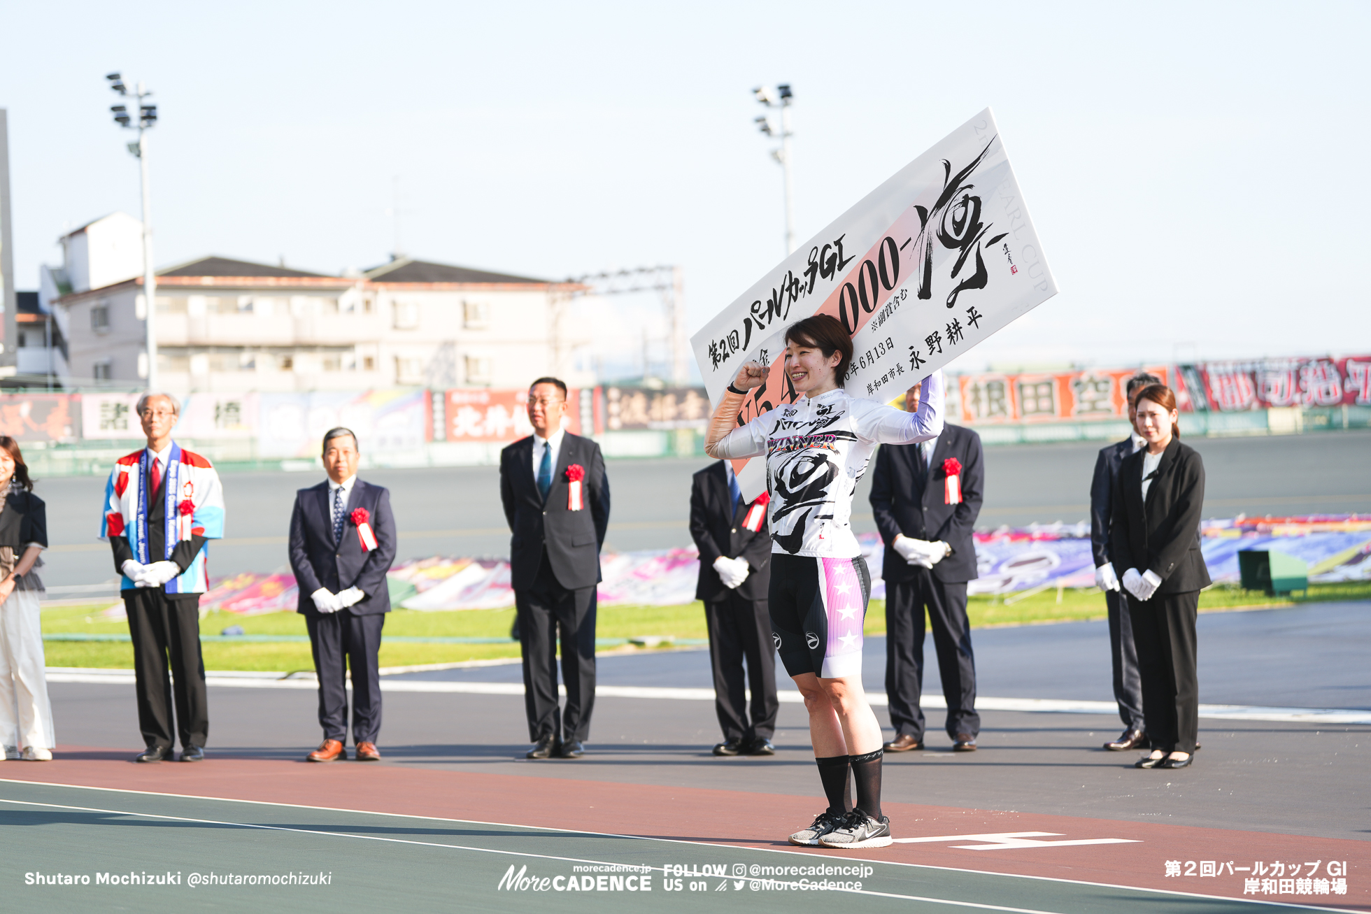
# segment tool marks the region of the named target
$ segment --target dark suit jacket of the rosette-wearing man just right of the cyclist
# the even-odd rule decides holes
[[[951,555],[934,566],[934,577],[945,584],[972,581],[976,576],[976,544],[972,532],[984,496],[986,465],[980,436],[960,425],[945,425],[932,459],[928,462],[927,485],[919,480],[917,444],[883,444],[876,454],[876,471],[871,480],[871,510],[876,528],[886,541],[884,570],[887,581],[908,581],[916,566],[901,558],[891,545],[903,533],[914,540],[942,540]],[[961,503],[947,504],[943,460],[961,460]]]

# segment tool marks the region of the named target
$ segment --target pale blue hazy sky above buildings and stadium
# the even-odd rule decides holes
[[[1371,351],[1364,3],[0,5],[15,269],[138,214],[104,74],[156,90],[156,260],[679,263],[688,326],[986,106],[1061,293],[990,363]],[[1357,63],[1361,60],[1363,63]],[[639,307],[650,307],[643,301]],[[632,321],[632,315],[624,315]]]

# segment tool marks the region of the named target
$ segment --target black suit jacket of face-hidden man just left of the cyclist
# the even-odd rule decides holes
[[[695,599],[710,603],[728,595],[728,588],[714,570],[714,559],[747,559],[751,571],[738,585],[738,596],[744,600],[765,600],[771,589],[771,525],[762,517],[755,533],[743,526],[751,506],[739,502],[728,491],[728,470],[724,462],[696,473],[690,489],[690,534],[699,548],[699,581]],[[765,511],[765,507],[762,508]]]

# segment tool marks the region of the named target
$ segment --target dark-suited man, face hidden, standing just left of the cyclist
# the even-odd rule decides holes
[[[771,530],[766,499],[743,500],[733,467],[725,460],[695,474],[690,493],[690,533],[699,548],[695,599],[705,602],[709,663],[714,671],[714,711],[724,741],[714,755],[775,755],[776,650],[772,647]],[[743,658],[753,688],[747,724]]]

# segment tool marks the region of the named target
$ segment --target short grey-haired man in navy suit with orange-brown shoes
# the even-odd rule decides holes
[[[347,670],[352,669],[352,744],[356,761],[381,752],[381,628],[391,611],[385,573],[395,560],[391,493],[356,478],[356,436],[329,429],[324,469],[329,478],[295,493],[291,514],[291,570],[300,588],[319,676],[319,726],[324,741],[306,758],[347,758]]]

